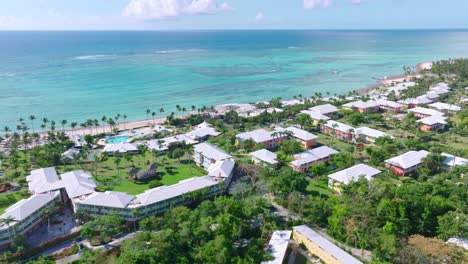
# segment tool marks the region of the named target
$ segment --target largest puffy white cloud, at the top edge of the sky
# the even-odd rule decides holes
[[[216,14],[233,10],[217,0],[131,0],[123,15],[143,20],[174,18],[182,15]]]

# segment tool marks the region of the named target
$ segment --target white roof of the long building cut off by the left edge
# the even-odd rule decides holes
[[[0,218],[3,219],[11,216],[13,219],[15,219],[15,221],[22,221],[37,210],[44,207],[46,204],[50,203],[59,194],[60,192],[58,191],[53,193],[34,194],[31,197],[22,199],[14,205],[8,207],[5,210],[5,213],[0,216]],[[0,228],[4,227],[6,226],[0,225]]]

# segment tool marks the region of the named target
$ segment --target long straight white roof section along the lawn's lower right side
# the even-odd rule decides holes
[[[218,184],[218,182],[210,176],[190,178],[180,181],[174,185],[161,186],[146,190],[144,193],[137,195],[137,199],[133,202],[133,206],[154,204],[180,196],[184,193],[193,192],[216,184]]]

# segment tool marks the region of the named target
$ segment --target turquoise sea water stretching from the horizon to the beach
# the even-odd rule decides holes
[[[0,32],[0,127],[341,94],[461,56],[468,31]]]

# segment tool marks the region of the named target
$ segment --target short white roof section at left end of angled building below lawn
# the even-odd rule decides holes
[[[135,198],[134,195],[129,195],[124,192],[94,192],[85,199],[75,202],[102,207],[124,208]]]

